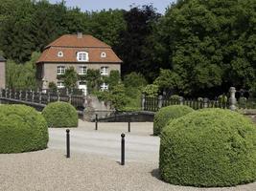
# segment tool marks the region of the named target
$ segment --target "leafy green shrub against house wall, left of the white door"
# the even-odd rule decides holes
[[[74,88],[77,88],[77,81],[79,77],[75,68],[70,67],[65,70],[65,74],[59,75],[58,79],[63,80],[65,88],[74,89]]]

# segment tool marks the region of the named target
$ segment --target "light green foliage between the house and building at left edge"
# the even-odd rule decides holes
[[[40,53],[32,53],[31,60],[25,64],[7,61],[7,87],[15,89],[36,89],[35,62]]]

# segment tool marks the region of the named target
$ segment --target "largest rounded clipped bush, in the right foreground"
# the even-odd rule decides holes
[[[256,126],[221,109],[193,112],[161,134],[161,179],[180,185],[231,186],[256,180]]]

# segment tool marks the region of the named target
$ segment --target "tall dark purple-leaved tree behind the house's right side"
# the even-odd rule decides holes
[[[151,79],[151,73],[154,73],[155,69],[151,65],[151,44],[147,42],[152,26],[159,16],[151,5],[141,9],[131,8],[125,12],[127,29],[121,33],[121,42],[114,48],[124,61],[122,74],[129,74],[136,69],[138,73]]]

